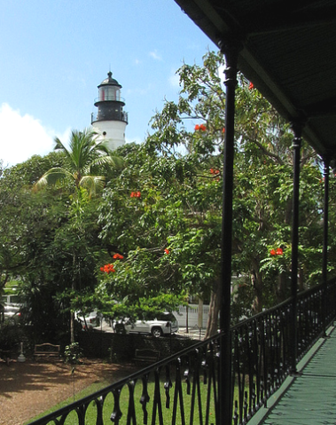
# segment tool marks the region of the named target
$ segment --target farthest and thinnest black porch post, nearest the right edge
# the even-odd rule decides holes
[[[329,227],[329,169],[330,160],[324,157],[324,244],[323,244],[323,264],[322,264],[322,285],[323,285],[323,305],[322,314],[324,320],[324,336],[326,336],[326,316],[327,316],[327,274],[328,274],[328,227]]]

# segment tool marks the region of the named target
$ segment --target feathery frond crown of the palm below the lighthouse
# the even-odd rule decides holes
[[[36,189],[73,181],[77,189],[85,188],[93,195],[105,184],[105,177],[98,175],[98,171],[102,167],[114,168],[121,165],[121,159],[112,155],[105,141],[98,141],[98,133],[94,130],[73,130],[68,148],[59,138],[55,138],[55,142],[54,149],[66,154],[65,167],[49,169],[35,183]]]

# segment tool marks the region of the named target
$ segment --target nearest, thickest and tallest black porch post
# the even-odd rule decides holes
[[[225,138],[223,165],[223,217],[222,217],[222,276],[221,276],[221,356],[218,376],[219,423],[231,425],[231,248],[232,248],[232,198],[234,158],[234,114],[237,85],[238,43],[223,40],[221,51],[225,55]]]

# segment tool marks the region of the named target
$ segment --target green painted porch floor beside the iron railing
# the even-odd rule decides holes
[[[270,408],[264,425],[336,423],[336,330],[319,347]],[[300,370],[300,369],[299,369]]]

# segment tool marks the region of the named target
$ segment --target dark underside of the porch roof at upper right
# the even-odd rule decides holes
[[[239,70],[336,159],[336,0],[175,1],[215,44],[238,38]]]

